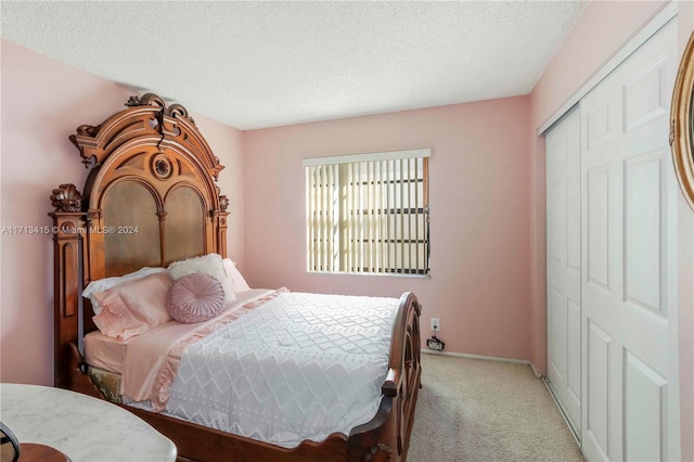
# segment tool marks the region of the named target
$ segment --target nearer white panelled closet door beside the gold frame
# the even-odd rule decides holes
[[[677,184],[668,23],[581,101],[582,448],[679,458]]]

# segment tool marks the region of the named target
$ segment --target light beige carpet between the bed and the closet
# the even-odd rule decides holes
[[[422,355],[408,462],[583,461],[529,365]]]

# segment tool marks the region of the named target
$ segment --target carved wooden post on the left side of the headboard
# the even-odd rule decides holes
[[[77,344],[79,330],[79,259],[85,213],[81,194],[75,184],[61,184],[53,190],[53,267],[55,313],[55,386],[69,387],[67,345]]]

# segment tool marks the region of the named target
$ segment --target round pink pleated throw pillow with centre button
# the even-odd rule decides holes
[[[211,275],[187,274],[169,287],[166,309],[178,322],[207,321],[224,310],[224,290]]]

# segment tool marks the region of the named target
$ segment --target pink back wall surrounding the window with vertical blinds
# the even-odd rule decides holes
[[[414,292],[450,351],[529,358],[528,99],[511,98],[245,133],[252,286]],[[301,159],[430,147],[432,277],[309,274]]]

